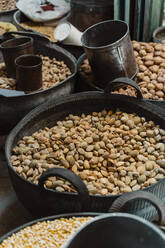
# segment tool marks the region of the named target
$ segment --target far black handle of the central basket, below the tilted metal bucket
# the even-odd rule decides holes
[[[126,77],[116,78],[115,80],[109,82],[106,88],[104,89],[104,92],[110,93],[112,90],[123,86],[132,86],[137,92],[137,98],[143,99],[139,86],[135,83],[135,81]]]

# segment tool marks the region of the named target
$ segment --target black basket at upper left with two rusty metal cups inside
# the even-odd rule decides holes
[[[22,96],[4,97],[0,95],[0,134],[8,133],[30,110],[48,100],[56,99],[74,92],[77,73],[76,59],[63,48],[39,38],[34,39],[36,54],[63,60],[72,75],[47,90],[41,90]],[[1,57],[2,61],[2,57]]]

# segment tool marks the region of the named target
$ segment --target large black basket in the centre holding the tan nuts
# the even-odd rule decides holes
[[[119,80],[121,81],[121,80]],[[116,82],[115,82],[116,84]],[[137,88],[137,87],[136,87]],[[138,88],[137,88],[138,89]],[[79,193],[57,192],[47,190],[43,187],[44,180],[53,175],[53,169],[47,171],[44,176],[40,178],[40,186],[35,185],[24,178],[22,178],[12,167],[10,157],[12,149],[17,142],[24,136],[31,135],[35,131],[46,126],[52,127],[57,121],[63,120],[69,114],[79,115],[81,113],[92,113],[93,111],[101,111],[102,109],[121,109],[121,111],[128,113],[136,113],[139,116],[144,116],[147,120],[152,120],[159,124],[161,128],[165,127],[165,112],[162,109],[148,103],[141,98],[138,90],[138,97],[107,94],[103,92],[85,92],[67,96],[63,99],[58,99],[53,103],[46,103],[37,109],[30,112],[10,133],[8,136],[5,154],[8,162],[8,169],[11,177],[13,187],[17,193],[18,198],[34,215],[50,215],[53,213],[66,212],[107,212],[113,201],[119,195],[89,195],[85,187],[82,187],[82,181],[75,181],[68,179],[74,183]],[[61,173],[62,176],[62,173]],[[67,175],[65,175],[66,178]],[[160,180],[156,184],[145,188],[145,191],[150,191],[160,199],[165,201],[165,179]],[[146,215],[146,207],[150,204],[139,202],[139,204],[131,204],[130,209],[132,213],[144,211]],[[147,212],[147,215],[152,215],[153,209]]]

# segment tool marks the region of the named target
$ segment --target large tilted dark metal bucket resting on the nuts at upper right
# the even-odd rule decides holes
[[[117,77],[133,78],[136,75],[138,67],[126,22],[97,23],[82,34],[81,42],[97,87],[104,89]]]

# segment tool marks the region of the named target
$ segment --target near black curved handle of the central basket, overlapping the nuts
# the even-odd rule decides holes
[[[84,184],[84,182],[81,180],[81,178],[78,175],[76,175],[71,170],[67,170],[65,168],[52,168],[52,169],[48,169],[47,171],[45,171],[39,177],[38,185],[42,189],[47,190],[44,188],[44,182],[46,179],[48,179],[49,177],[52,177],[52,176],[61,177],[61,178],[66,179],[67,181],[69,181],[77,189],[79,196],[80,196],[80,200],[82,202],[82,205],[88,206],[88,202],[90,199],[89,192],[88,192],[86,185]],[[59,192],[59,193],[61,193],[61,192]],[[82,206],[82,208],[83,208],[83,206]]]

